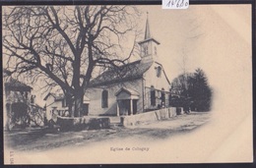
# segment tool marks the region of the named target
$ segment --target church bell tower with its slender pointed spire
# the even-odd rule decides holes
[[[145,63],[158,61],[158,45],[160,44],[160,42],[151,35],[148,15],[149,13],[147,12],[144,40],[138,42],[141,48],[142,62]]]

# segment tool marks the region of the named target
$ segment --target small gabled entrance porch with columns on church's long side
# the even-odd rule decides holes
[[[117,116],[127,116],[137,113],[139,93],[133,89],[122,87],[116,93]]]

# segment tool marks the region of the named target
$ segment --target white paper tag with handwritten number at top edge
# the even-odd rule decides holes
[[[189,0],[162,0],[162,9],[187,9]]]

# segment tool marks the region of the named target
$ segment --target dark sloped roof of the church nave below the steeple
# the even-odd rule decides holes
[[[92,80],[90,86],[98,86],[103,84],[116,84],[139,79],[147,72],[153,62],[144,63],[141,60],[120,66],[115,69],[110,69],[97,76]]]

